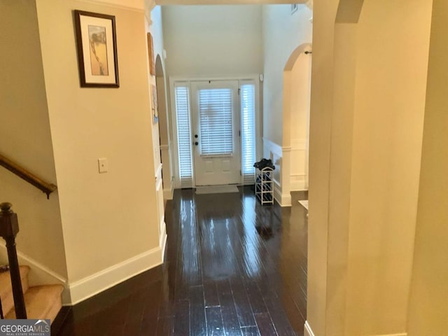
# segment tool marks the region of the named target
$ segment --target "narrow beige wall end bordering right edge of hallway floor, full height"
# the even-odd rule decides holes
[[[315,1],[309,123],[309,219],[307,322],[314,335],[327,335],[328,203],[333,109],[334,36],[339,0]],[[330,313],[331,314],[331,311]],[[343,316],[342,316],[343,318]]]

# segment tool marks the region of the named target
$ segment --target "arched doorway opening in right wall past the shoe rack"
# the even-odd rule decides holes
[[[308,190],[311,43],[299,45],[283,69],[282,194]]]

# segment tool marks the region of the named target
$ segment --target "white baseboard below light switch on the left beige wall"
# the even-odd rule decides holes
[[[166,241],[164,238],[162,240]],[[165,243],[163,243],[165,244]],[[164,248],[165,249],[165,248]],[[136,255],[133,258],[113,265],[84,279],[69,284],[71,302],[77,304],[102,291],[116,286],[118,283],[136,276],[141,272],[162,264],[164,251],[160,246]]]

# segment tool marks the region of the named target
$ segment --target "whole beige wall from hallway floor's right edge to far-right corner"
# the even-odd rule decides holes
[[[431,3],[365,0],[358,23],[335,26],[338,2],[314,4],[308,322],[315,335],[395,334],[407,324]]]

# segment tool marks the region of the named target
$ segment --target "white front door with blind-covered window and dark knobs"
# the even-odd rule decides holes
[[[240,183],[238,81],[194,81],[191,88],[196,186]]]

